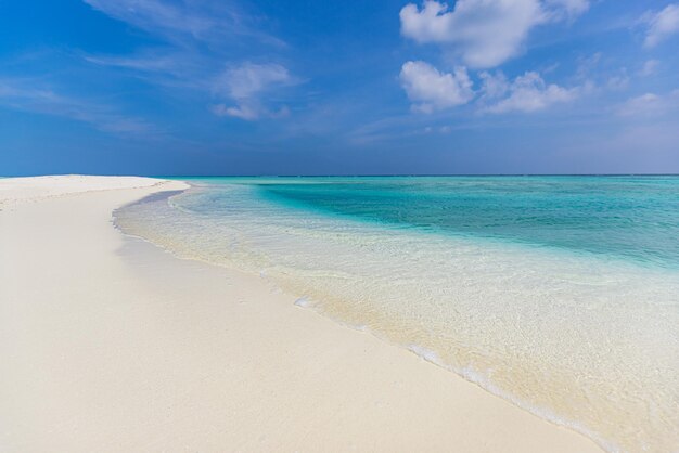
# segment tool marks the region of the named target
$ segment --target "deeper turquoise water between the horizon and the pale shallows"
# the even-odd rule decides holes
[[[204,181],[254,185],[262,197],[299,209],[679,267],[679,177]]]

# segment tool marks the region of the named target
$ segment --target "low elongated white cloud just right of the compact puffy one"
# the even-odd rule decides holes
[[[552,104],[573,101],[579,92],[579,88],[547,85],[535,72],[518,76],[513,81],[509,81],[501,73],[484,73],[482,78],[482,101],[487,105],[481,111],[487,113],[537,112]]]

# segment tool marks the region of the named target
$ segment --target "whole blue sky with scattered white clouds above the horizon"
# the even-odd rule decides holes
[[[48,173],[679,173],[679,2],[0,0]]]

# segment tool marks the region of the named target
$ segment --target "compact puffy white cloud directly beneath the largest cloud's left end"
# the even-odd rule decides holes
[[[466,104],[474,98],[472,81],[464,67],[441,73],[425,62],[406,62],[400,73],[401,87],[413,102],[412,108],[432,113]]]

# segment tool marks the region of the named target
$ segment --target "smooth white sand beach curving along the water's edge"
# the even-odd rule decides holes
[[[602,450],[265,280],[125,236],[187,184],[0,180],[0,451]]]

